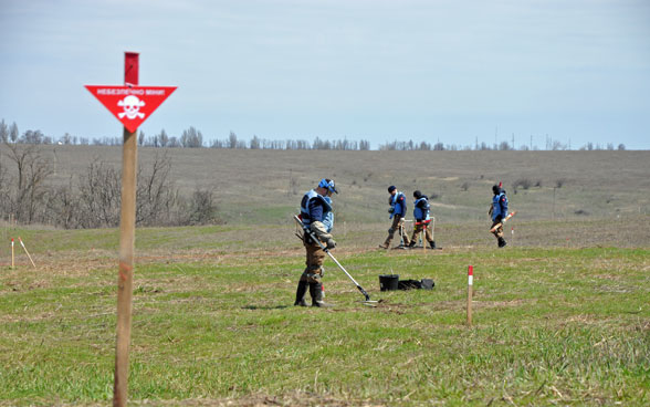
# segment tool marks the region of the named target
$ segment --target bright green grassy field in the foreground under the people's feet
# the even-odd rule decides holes
[[[386,223],[386,222],[385,222]],[[650,218],[440,222],[443,250],[378,251],[385,223],[337,222],[327,310],[294,307],[293,226],[139,229],[129,401],[164,406],[648,406]],[[108,406],[118,231],[2,229],[0,405]],[[473,326],[465,324],[474,267]],[[431,278],[380,292],[378,275]]]

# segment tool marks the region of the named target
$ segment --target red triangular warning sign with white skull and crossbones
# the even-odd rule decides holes
[[[99,101],[130,133],[160,106],[176,86],[104,86],[86,85]]]

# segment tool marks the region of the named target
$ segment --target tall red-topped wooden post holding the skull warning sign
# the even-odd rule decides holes
[[[125,53],[124,82],[138,84],[138,54]],[[117,279],[117,343],[115,347],[115,382],[113,406],[126,406],[128,392],[128,348],[133,298],[135,248],[137,129],[124,128],[122,155],[122,212],[119,218],[119,273]]]

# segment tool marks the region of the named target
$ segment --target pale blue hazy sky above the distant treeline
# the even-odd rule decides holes
[[[146,136],[650,149],[647,0],[0,0],[0,119],[122,137],[126,51]]]

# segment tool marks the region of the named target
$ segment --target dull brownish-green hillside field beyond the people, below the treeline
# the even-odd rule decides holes
[[[0,149],[2,146],[0,145]],[[67,185],[92,161],[119,168],[120,147],[43,146]],[[441,222],[484,220],[492,185],[502,181],[511,206],[526,219],[584,220],[650,215],[650,152],[295,152],[139,148],[144,168],[156,154],[171,158],[182,194],[210,189],[228,223],[282,223],[321,178],[334,178],[337,219],[388,222],[396,185],[409,199],[421,190]],[[528,189],[515,188],[528,180]],[[7,219],[7,213],[3,215]]]

